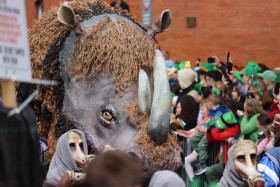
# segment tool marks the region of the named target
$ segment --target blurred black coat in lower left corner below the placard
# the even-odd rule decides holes
[[[39,136],[33,111],[7,117],[0,106],[0,186],[37,187],[42,182]]]

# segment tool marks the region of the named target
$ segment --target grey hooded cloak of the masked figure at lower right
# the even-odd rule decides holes
[[[234,146],[232,146],[228,150],[228,162],[226,164],[223,177],[218,183],[219,187],[231,187],[231,186],[247,187],[248,186],[248,184],[242,180],[240,175],[235,170],[233,156],[232,156],[233,147]]]

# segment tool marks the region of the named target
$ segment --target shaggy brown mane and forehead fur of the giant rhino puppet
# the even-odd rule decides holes
[[[121,9],[113,9],[104,2],[78,0],[69,5],[80,22],[92,16],[109,13],[125,17],[143,31],[145,30],[132,14]],[[49,132],[48,158],[51,158],[55,151],[57,137],[54,132],[64,98],[64,84],[60,77],[58,54],[65,38],[73,30],[59,23],[57,11],[58,7],[51,8],[29,29],[34,78],[56,80],[59,83],[56,87],[37,85],[39,93],[36,100],[43,102],[43,105],[52,113],[53,119],[51,124],[41,127],[42,132]],[[82,36],[80,45],[75,47],[80,55],[70,64],[69,72],[75,72],[80,80],[85,76],[99,76],[103,70],[106,70],[107,75],[114,72],[113,81],[116,83],[114,91],[122,95],[126,87],[137,80],[140,68],[148,73],[153,72],[156,42],[140,34],[141,29],[135,28],[127,21],[119,19],[118,23],[120,28],[116,28],[115,24],[106,18]],[[106,28],[106,31],[98,32],[101,28]]]

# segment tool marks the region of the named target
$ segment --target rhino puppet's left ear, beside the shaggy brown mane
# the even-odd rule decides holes
[[[72,8],[68,5],[68,2],[64,2],[60,5],[57,12],[58,20],[64,25],[72,27],[77,34],[83,34],[83,31],[80,26],[80,22],[74,16]]]

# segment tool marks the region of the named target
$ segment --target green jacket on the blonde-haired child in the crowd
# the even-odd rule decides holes
[[[253,142],[257,142],[259,129],[257,127],[257,117],[259,114],[253,115],[250,120],[247,119],[247,116],[244,115],[241,125],[240,131],[241,134],[245,136],[245,139],[252,140]]]

